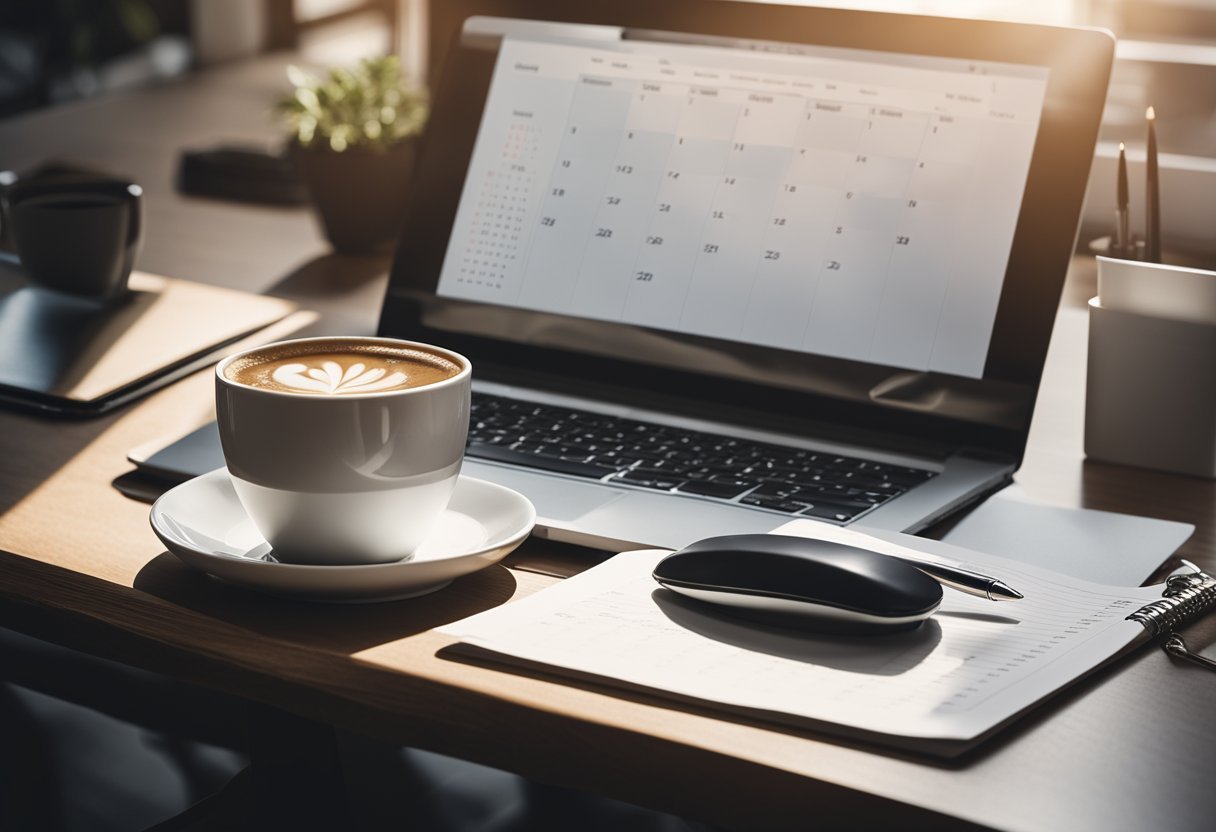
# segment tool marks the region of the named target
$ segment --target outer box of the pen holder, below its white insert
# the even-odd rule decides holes
[[[1216,324],[1091,299],[1085,452],[1216,478]]]

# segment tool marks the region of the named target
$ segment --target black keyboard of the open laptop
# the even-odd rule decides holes
[[[934,476],[800,448],[473,394],[468,455],[850,522]]]

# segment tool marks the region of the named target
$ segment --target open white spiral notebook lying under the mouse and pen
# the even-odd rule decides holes
[[[1108,586],[910,535],[809,521],[782,533],[957,563],[1025,598],[998,605],[946,590],[916,631],[814,636],[674,596],[651,577],[668,552],[644,550],[440,629],[461,642],[445,654],[948,758],[1216,603],[1216,578],[1201,572]]]

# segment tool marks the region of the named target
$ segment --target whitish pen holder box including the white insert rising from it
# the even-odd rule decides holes
[[[1216,478],[1216,272],[1098,258],[1085,452]]]

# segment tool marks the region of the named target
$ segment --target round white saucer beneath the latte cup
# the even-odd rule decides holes
[[[360,566],[275,561],[241,507],[226,468],[167,491],[150,519],[170,552],[215,578],[309,601],[368,602],[434,592],[496,563],[528,536],[536,510],[510,488],[461,477],[435,533],[410,560]]]

